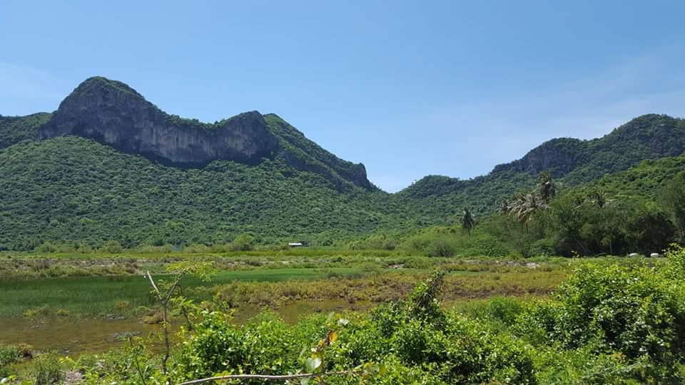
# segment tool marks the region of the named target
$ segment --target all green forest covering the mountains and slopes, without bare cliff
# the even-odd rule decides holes
[[[220,125],[168,115],[106,78],[90,78],[74,93],[110,91],[132,95],[131,103],[184,129]],[[68,107],[76,112],[64,116],[78,112]],[[112,108],[116,114],[126,106]],[[303,241],[427,255],[592,255],[659,252],[685,231],[685,214],[662,199],[664,181],[685,163],[679,158],[685,120],[669,116],[641,116],[595,140],[550,140],[489,175],[431,175],[397,194],[378,190],[363,165],[337,158],[273,114],[263,116],[278,141],[267,158],[194,168],[84,138],[33,142],[50,118],[0,116],[0,250],[227,244],[249,250]],[[560,196],[539,205],[530,192],[543,172]],[[535,205],[524,220],[493,215],[514,195]],[[607,205],[594,210],[590,203],[600,198]],[[460,231],[462,212],[470,214],[467,235]],[[653,231],[659,236],[650,242]]]

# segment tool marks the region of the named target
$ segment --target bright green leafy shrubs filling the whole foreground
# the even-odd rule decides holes
[[[304,383],[680,384],[683,274],[685,250],[676,248],[665,263],[581,264],[549,299],[494,298],[445,310],[437,298],[450,289],[436,273],[370,312],[314,314],[296,324],[273,312],[235,324],[220,297],[197,305],[178,299],[174,306],[189,312],[188,323],[168,360],[133,338],[78,359],[41,354],[28,368],[14,363],[29,359],[30,348],[2,347],[0,370],[36,384],[67,376],[88,384],[178,384],[310,373],[328,376]]]

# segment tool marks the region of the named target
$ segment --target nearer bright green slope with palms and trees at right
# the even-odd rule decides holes
[[[650,255],[685,241],[683,186],[685,156],[645,160],[575,188],[541,173],[537,187],[502,199],[497,214],[470,228],[455,215],[447,226],[379,232],[348,245],[442,257]]]

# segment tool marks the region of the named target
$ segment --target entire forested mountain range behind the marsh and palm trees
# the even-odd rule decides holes
[[[364,165],[275,114],[201,123],[94,77],[54,113],[0,116],[0,250],[46,241],[217,243],[244,232],[328,245],[455,222],[464,205],[489,215],[500,200],[534,188],[542,170],[567,187],[599,183],[684,150],[684,120],[646,115],[603,138],[549,140],[488,175],[429,175],[388,194]]]

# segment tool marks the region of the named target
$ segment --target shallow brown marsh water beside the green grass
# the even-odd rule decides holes
[[[344,300],[335,301],[298,301],[286,304],[274,311],[285,322],[295,323],[303,315],[315,312],[340,312],[345,309],[368,309],[369,303],[350,304]],[[246,322],[261,309],[240,307],[235,313],[234,322]],[[126,336],[148,337],[158,332],[158,324],[145,324],[136,317],[127,319],[0,319],[0,344],[29,344],[36,351],[58,351],[62,354],[100,352],[116,347],[127,341]]]

